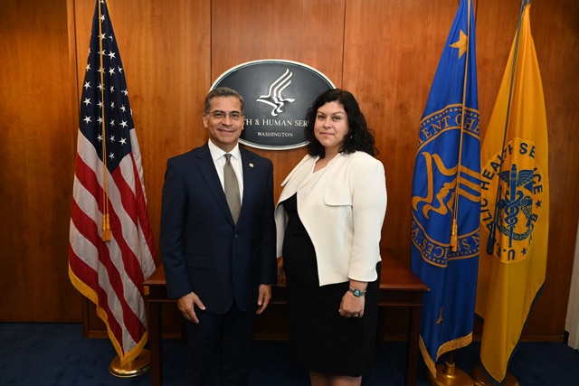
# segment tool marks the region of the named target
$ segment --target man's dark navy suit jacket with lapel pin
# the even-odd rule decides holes
[[[260,284],[277,281],[273,166],[242,146],[240,151],[243,195],[237,224],[207,143],[166,165],[160,248],[167,296],[195,292],[206,307],[197,312],[201,324],[221,323],[204,315],[227,315],[232,308],[254,315]]]

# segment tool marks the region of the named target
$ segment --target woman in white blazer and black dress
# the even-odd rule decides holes
[[[330,89],[307,114],[308,155],[276,208],[289,352],[312,385],[360,385],[375,348],[384,166],[354,96]]]

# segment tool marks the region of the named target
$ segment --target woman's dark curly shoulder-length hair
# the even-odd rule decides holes
[[[360,111],[358,102],[354,96],[345,89],[328,89],[327,91],[324,91],[316,100],[314,100],[311,108],[308,108],[306,114],[308,126],[305,128],[306,138],[309,141],[308,154],[319,155],[321,158],[326,155],[324,146],[319,143],[314,135],[314,125],[316,124],[318,108],[322,107],[327,102],[334,101],[341,103],[344,107],[347,115],[347,123],[350,127],[350,131],[346,134],[344,145],[340,149],[340,153],[349,154],[356,151],[363,151],[372,156],[377,155],[378,149],[375,147],[374,134],[366,125],[364,115],[362,114],[362,111]]]

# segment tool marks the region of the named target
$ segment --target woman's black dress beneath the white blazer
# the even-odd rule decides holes
[[[289,216],[283,241],[289,307],[289,355],[312,372],[360,376],[375,351],[380,278],[369,283],[364,316],[339,315],[349,281],[319,287],[316,252],[299,220],[297,194],[282,202]],[[379,263],[377,268],[380,274]]]

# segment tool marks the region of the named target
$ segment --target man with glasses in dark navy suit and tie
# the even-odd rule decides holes
[[[222,385],[248,383],[253,321],[277,280],[273,165],[239,146],[243,107],[233,89],[210,91],[209,140],[166,165],[160,248],[167,295],[186,319],[190,385],[214,384],[215,368]]]

